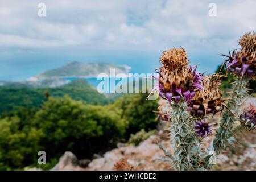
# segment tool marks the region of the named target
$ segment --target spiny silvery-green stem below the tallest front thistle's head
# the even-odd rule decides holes
[[[187,103],[173,102],[170,118],[170,134],[174,150],[172,163],[177,170],[195,170],[199,157],[195,147],[196,137],[192,130],[192,118],[187,112]]]

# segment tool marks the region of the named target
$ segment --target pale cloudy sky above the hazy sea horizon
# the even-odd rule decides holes
[[[256,30],[256,1],[45,1],[47,17],[37,16],[36,1],[7,1],[0,9],[0,46],[84,46],[113,49],[234,48]]]

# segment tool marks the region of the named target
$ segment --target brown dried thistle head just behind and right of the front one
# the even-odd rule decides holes
[[[189,111],[195,115],[216,114],[224,109],[224,102],[221,100],[222,91],[221,75],[214,73],[203,77],[202,84],[205,89],[196,92],[195,97],[189,102]]]

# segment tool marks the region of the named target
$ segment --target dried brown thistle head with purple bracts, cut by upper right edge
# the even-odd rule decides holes
[[[229,54],[226,68],[236,76],[255,78],[256,76],[256,34],[247,33],[240,40],[241,49]]]

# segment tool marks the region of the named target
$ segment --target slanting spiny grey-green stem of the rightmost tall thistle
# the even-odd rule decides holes
[[[214,139],[214,148],[216,154],[220,154],[222,150],[225,150],[226,144],[234,143],[233,135],[233,124],[237,121],[236,114],[238,113],[238,109],[240,108],[242,102],[245,100],[247,96],[247,84],[248,80],[245,78],[238,78],[233,82],[233,88],[231,93],[229,94],[229,103],[228,110],[224,110],[221,118],[221,125],[217,131],[216,138]]]

